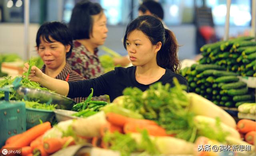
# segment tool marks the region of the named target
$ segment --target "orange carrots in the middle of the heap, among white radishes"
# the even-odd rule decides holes
[[[149,135],[152,136],[171,136],[166,134],[166,130],[160,127],[155,121],[147,119],[134,119],[119,115],[116,113],[107,113],[106,120],[108,123],[102,125],[100,128],[100,137],[92,138],[92,145],[95,147],[107,148],[102,141],[102,137],[107,133],[141,133],[142,130],[146,130]]]

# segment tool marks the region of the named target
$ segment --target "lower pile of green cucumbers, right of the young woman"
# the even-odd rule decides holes
[[[189,92],[199,94],[216,105],[238,107],[242,103],[255,102],[246,83],[239,81],[236,72],[228,72],[217,64],[193,64],[180,70],[188,80]]]

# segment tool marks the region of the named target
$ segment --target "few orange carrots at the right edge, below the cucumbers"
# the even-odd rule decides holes
[[[236,129],[244,137],[244,140],[250,144],[254,144],[256,138],[256,121],[249,119],[241,119],[236,125]]]

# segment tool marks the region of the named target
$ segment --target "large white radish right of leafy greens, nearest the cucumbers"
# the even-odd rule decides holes
[[[195,93],[188,93],[188,97],[190,99],[189,110],[191,112],[196,115],[204,115],[214,119],[219,117],[222,123],[225,123],[232,128],[236,128],[236,121],[234,118],[219,106]]]

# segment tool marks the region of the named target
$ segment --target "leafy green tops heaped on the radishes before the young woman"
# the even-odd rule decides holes
[[[222,142],[227,134],[222,131],[220,124],[216,123],[217,131],[207,123],[198,131],[194,123],[195,115],[188,111],[190,102],[184,86],[176,78],[174,84],[171,88],[170,84],[156,83],[145,92],[138,88],[126,88],[122,105],[140,113],[145,119],[156,121],[168,134],[174,134],[177,138],[194,142],[198,136],[204,135]]]

